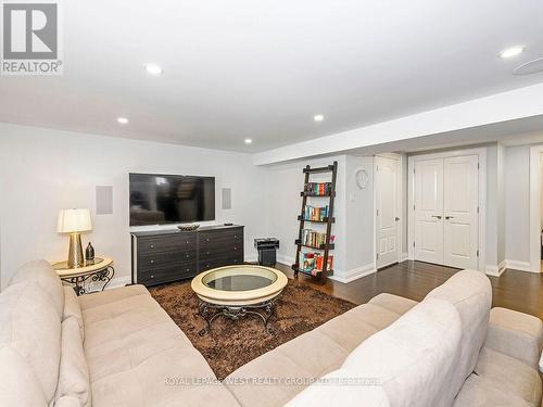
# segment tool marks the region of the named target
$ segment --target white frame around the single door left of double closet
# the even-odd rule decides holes
[[[403,219],[403,202],[404,202],[404,191],[403,191],[403,178],[404,178],[404,169],[403,169],[403,163],[405,162],[405,155],[402,154],[394,154],[394,153],[383,153],[383,154],[376,154],[374,155],[374,269],[378,270],[377,268],[377,158],[389,158],[389,160],[394,160],[397,161],[397,169],[399,169],[399,179],[397,179],[397,202],[396,202],[396,211],[400,217],[400,220],[397,221],[397,230],[396,230],[396,242],[397,242],[397,263],[402,263],[402,253],[404,250],[403,246],[403,230],[404,230],[404,225],[406,225],[405,220]],[[382,266],[387,267],[387,266]]]

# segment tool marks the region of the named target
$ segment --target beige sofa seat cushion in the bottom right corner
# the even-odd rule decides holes
[[[539,372],[518,359],[483,347],[477,359],[475,373],[496,390],[521,397],[530,405],[540,405]]]

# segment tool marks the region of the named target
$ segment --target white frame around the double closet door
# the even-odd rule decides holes
[[[422,153],[416,155],[407,156],[407,249],[408,258],[415,259],[415,251],[413,250],[413,243],[415,239],[415,220],[413,206],[415,205],[415,163],[427,160],[438,160],[438,158],[450,158],[463,155],[477,155],[479,157],[479,257],[477,259],[477,269],[480,271],[485,271],[485,254],[487,254],[487,149],[476,148],[476,149],[465,149],[465,150],[454,150],[444,151],[438,153]]]

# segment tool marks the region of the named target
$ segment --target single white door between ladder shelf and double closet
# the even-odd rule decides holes
[[[400,259],[400,162],[376,157],[377,268]]]

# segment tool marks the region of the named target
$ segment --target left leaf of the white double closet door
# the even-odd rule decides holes
[[[415,162],[415,259],[443,264],[443,158]]]

